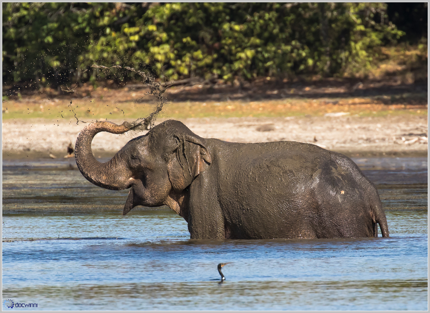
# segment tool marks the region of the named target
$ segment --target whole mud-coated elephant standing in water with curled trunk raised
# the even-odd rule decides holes
[[[77,138],[76,163],[97,186],[131,188],[135,206],[167,205],[192,239],[389,236],[378,191],[347,156],[295,141],[243,144],[201,138],[168,120],[130,140],[106,163],[91,151],[95,122]]]

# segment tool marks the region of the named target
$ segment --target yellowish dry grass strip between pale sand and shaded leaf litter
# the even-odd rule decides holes
[[[147,116],[154,109],[151,103],[137,104],[126,100],[97,99],[27,99],[3,101],[3,119],[45,118],[69,120],[75,113],[79,120],[131,120]],[[327,113],[348,112],[358,116],[399,114],[427,115],[426,105],[384,104],[384,98],[342,99],[276,99],[262,101],[185,101],[172,102],[162,111],[162,117],[289,117],[323,116]]]

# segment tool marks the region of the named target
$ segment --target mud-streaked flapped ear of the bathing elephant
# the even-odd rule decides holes
[[[175,190],[184,190],[191,181],[205,171],[205,162],[212,162],[208,149],[197,138],[176,135],[176,147],[168,165],[169,179]]]

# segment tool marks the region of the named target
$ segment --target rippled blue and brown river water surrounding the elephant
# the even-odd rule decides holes
[[[3,300],[37,303],[13,310],[427,310],[427,158],[354,161],[378,187],[389,238],[190,240],[172,210],[122,216],[127,190],[90,184],[70,160],[3,161]]]

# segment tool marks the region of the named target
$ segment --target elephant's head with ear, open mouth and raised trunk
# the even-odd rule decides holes
[[[182,206],[186,189],[211,163],[206,141],[183,123],[168,120],[153,127],[146,135],[130,140],[106,163],[92,154],[91,142],[99,132],[123,134],[132,124],[117,125],[98,121],[86,126],[75,145],[76,164],[93,184],[111,190],[131,188],[123,215],[135,206],[167,204],[188,220]]]

